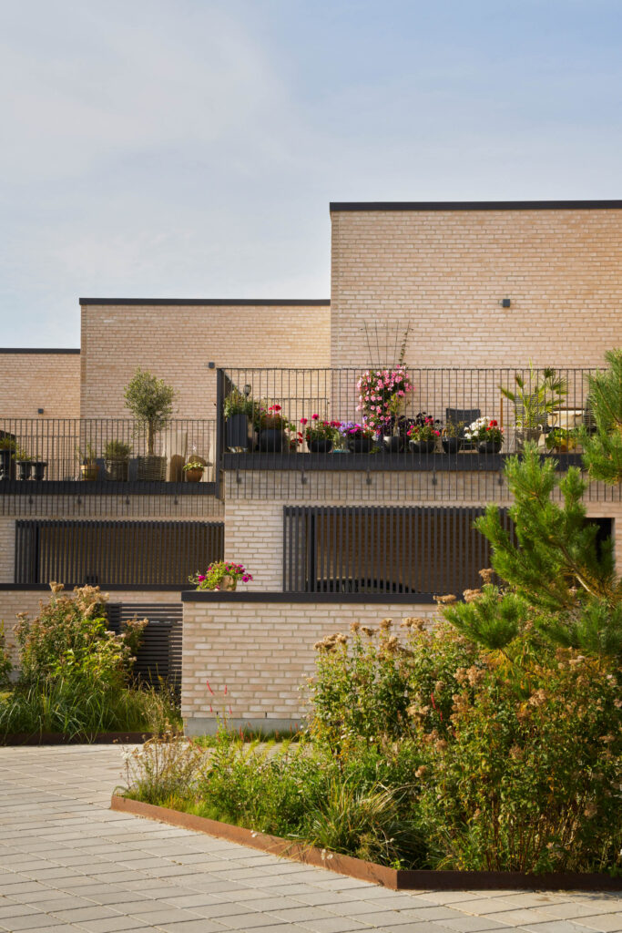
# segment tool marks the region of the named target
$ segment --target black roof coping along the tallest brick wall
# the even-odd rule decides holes
[[[590,211],[622,208],[622,201],[331,201],[339,211]]]

